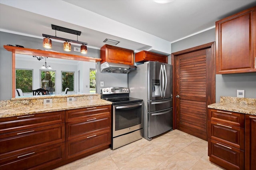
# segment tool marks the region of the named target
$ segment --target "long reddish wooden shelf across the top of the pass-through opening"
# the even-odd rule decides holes
[[[82,55],[74,55],[74,54],[67,54],[67,53],[58,53],[58,52],[54,52],[54,51],[44,51],[44,50],[40,50],[40,49],[14,47],[14,46],[9,46],[9,45],[4,45],[4,48],[7,51],[11,51],[12,53],[16,53],[16,54],[37,55],[37,56],[43,56],[43,57],[73,59],[73,60],[90,61],[90,62],[101,61],[100,58],[86,57],[86,56],[82,56]]]

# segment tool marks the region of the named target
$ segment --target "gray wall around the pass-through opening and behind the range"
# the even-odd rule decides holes
[[[22,45],[26,48],[42,49],[43,40],[40,38],[32,38],[28,36],[21,36],[17,34],[10,34],[6,32],[0,32],[0,100],[10,100],[12,97],[12,53],[4,49],[3,45]],[[88,44],[90,45],[90,44]],[[79,47],[72,45],[71,51],[66,52],[63,50],[63,43],[52,41],[52,50],[60,51],[61,53],[70,53],[74,55],[81,55],[79,52],[74,52],[73,47]],[[88,57],[100,58],[100,49],[94,49],[88,47]],[[111,74],[100,73],[100,62],[97,63],[97,91],[100,93],[100,81],[104,81],[104,87],[121,86],[127,87],[127,74]]]

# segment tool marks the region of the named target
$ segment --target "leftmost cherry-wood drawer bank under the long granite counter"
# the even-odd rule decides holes
[[[65,159],[65,112],[0,119],[0,169],[42,169]]]

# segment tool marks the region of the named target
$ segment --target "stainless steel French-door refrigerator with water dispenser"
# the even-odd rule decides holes
[[[148,61],[128,73],[130,97],[143,99],[143,137],[162,134],[173,128],[172,65]]]

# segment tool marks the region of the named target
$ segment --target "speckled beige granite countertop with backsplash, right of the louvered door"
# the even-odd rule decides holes
[[[208,105],[208,108],[256,115],[256,99],[221,96],[220,103]]]

